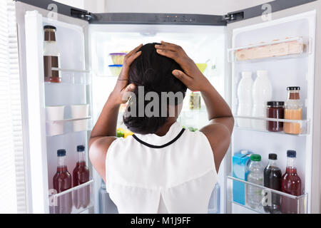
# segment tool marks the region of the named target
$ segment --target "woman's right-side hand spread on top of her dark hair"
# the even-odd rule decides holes
[[[173,76],[182,81],[190,90],[200,90],[209,83],[203,73],[200,72],[194,61],[188,57],[183,48],[174,44],[161,41],[161,44],[155,46],[157,53],[161,56],[172,58],[180,65],[183,71],[174,70]]]

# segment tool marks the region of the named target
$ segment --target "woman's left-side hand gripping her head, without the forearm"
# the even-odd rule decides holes
[[[128,100],[128,95],[126,93],[132,92],[135,89],[135,84],[131,83],[128,84],[128,72],[131,63],[138,57],[141,56],[141,51],[138,51],[143,44],[137,46],[132,51],[126,54],[123,60],[123,67],[121,68],[121,73],[118,76],[118,80],[116,83],[115,88],[113,88],[113,95],[114,100],[116,103],[126,103]]]

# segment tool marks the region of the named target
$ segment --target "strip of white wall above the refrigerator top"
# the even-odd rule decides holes
[[[268,1],[272,0],[106,0],[106,11],[223,15]]]

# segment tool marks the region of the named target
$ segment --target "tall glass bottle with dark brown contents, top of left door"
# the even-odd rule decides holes
[[[56,27],[44,26],[44,81],[60,83],[61,76],[58,71],[59,57],[56,42]],[[56,69],[52,69],[56,68]]]

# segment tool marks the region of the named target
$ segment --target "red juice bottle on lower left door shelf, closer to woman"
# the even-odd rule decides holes
[[[73,169],[73,187],[89,181],[89,170],[86,166],[85,147],[83,145],[77,146],[77,154],[78,161],[76,163],[76,167]],[[73,204],[77,209],[81,207],[86,208],[90,202],[90,185],[73,191]]]

